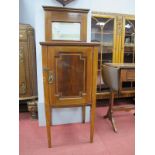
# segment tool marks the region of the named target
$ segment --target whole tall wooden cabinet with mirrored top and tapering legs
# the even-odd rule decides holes
[[[90,112],[90,142],[93,142],[96,106],[98,43],[87,41],[88,9],[43,6],[45,40],[42,45],[48,147],[51,147],[51,108],[82,107]]]

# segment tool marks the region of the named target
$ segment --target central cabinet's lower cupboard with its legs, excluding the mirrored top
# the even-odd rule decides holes
[[[91,106],[93,142],[96,105],[97,43],[41,42],[48,147],[51,147],[51,108]]]

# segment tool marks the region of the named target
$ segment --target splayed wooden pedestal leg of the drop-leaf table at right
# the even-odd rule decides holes
[[[112,113],[113,113],[113,111],[112,111],[113,104],[114,104],[114,92],[112,91],[111,92],[111,100],[110,100],[110,103],[109,103],[109,108],[108,108],[107,114],[104,116],[104,118],[108,118],[111,121],[114,132],[117,132],[115,121],[114,121],[114,118],[113,118],[113,115],[112,115]]]

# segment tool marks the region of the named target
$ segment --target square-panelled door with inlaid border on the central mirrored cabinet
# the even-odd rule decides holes
[[[50,104],[91,101],[92,48],[48,47],[48,69]]]

